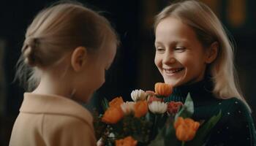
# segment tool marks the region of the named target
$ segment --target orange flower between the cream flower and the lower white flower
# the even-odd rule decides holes
[[[137,101],[135,103],[135,117],[140,118],[143,115],[146,115],[147,112],[148,112],[147,101]]]

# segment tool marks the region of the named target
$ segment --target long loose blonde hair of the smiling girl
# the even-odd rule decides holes
[[[211,9],[200,1],[181,1],[165,7],[156,17],[154,29],[165,18],[174,17],[187,24],[197,34],[197,39],[207,48],[213,42],[219,43],[216,60],[210,64],[209,72],[214,82],[213,93],[217,98],[236,97],[246,103],[238,85],[233,64],[233,44],[228,39],[225,28]],[[250,110],[250,108],[249,108]]]

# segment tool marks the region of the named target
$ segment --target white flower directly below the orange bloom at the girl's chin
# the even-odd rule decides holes
[[[161,101],[152,101],[151,104],[148,105],[148,109],[154,114],[162,114],[167,110],[167,104]]]

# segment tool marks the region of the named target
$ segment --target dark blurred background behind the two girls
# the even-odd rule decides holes
[[[256,1],[201,0],[222,20],[236,41],[236,68],[241,89],[255,118],[256,99]],[[0,1],[0,145],[8,145],[12,125],[23,100],[23,88],[12,82],[26,28],[40,9],[53,0]],[[121,39],[116,61],[107,74],[105,85],[94,95],[113,99],[136,88],[153,90],[162,77],[154,66],[154,15],[171,1],[167,0],[80,0],[102,12]],[[95,102],[94,102],[95,103]]]

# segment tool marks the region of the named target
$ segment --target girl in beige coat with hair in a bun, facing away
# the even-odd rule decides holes
[[[108,20],[79,3],[39,12],[17,72],[34,90],[24,93],[10,145],[96,145],[92,116],[78,101],[88,101],[105,82],[117,45]]]

